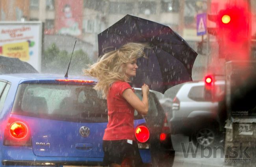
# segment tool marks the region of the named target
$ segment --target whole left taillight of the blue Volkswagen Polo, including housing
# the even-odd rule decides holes
[[[24,121],[10,118],[4,132],[4,145],[32,146],[28,125]]]

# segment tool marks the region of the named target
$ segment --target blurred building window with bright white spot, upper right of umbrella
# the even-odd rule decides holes
[[[162,0],[161,1],[161,10],[163,12],[179,12],[180,2],[179,0]]]

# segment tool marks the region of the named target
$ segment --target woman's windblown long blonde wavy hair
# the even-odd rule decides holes
[[[118,50],[105,53],[95,64],[89,64],[88,69],[83,70],[85,75],[90,75],[98,79],[94,87],[102,92],[102,97],[106,98],[109,87],[115,81],[130,82],[130,78],[124,75],[123,64],[132,62],[139,57],[145,57],[144,48],[147,44],[130,42],[121,46]]]

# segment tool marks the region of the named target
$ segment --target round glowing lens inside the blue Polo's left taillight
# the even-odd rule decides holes
[[[28,127],[22,122],[14,122],[10,126],[10,133],[16,139],[23,139],[28,135]]]

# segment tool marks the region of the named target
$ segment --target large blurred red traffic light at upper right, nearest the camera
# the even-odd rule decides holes
[[[246,59],[249,56],[249,13],[245,6],[228,6],[217,15],[208,15],[216,28],[208,28],[219,44],[219,58]]]

